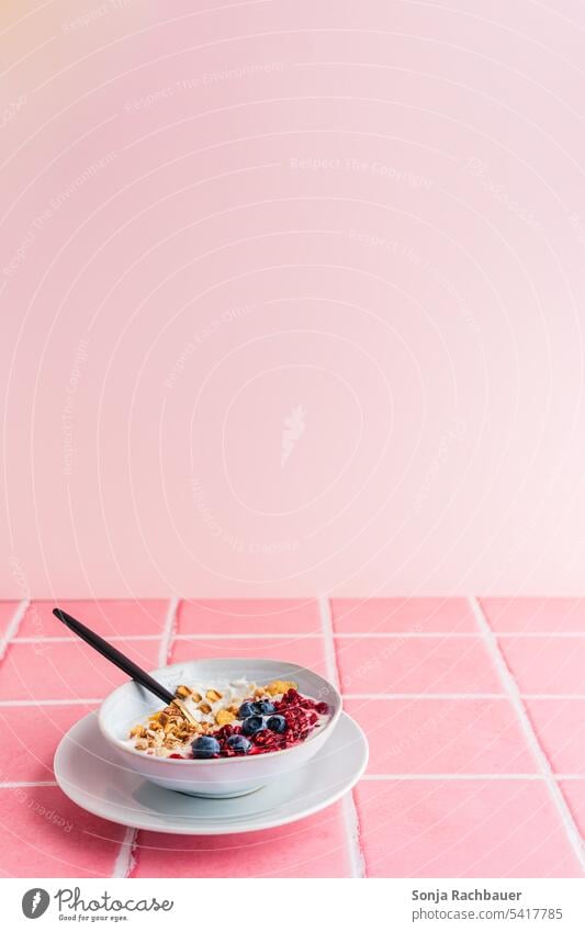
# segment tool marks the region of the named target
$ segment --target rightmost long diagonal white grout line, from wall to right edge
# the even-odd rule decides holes
[[[535,757],[538,770],[542,774],[542,777],[547,783],[547,787],[551,795],[552,801],[556,808],[556,811],[565,830],[567,841],[573,847],[573,851],[575,852],[575,855],[581,864],[582,869],[585,872],[585,843],[581,838],[578,828],[575,824],[575,820],[573,819],[573,813],[566,805],[566,800],[562,794],[562,790],[559,784],[555,782],[554,772],[550,765],[549,759],[547,757],[544,751],[540,745],[537,732],[535,731],[532,722],[530,721],[526,707],[522,703],[518,684],[516,683],[516,680],[506,663],[504,654],[499,649],[497,638],[492,631],[492,628],[490,627],[490,624],[483,613],[483,608],[480,605],[479,599],[475,598],[475,596],[471,596],[469,602],[474,618],[477,622],[477,627],[485,639],[487,651],[494,662],[494,666],[497,671],[502,685],[504,686],[504,689],[509,696],[510,701],[516,710],[516,714],[518,716],[518,723],[524,732],[528,746],[532,752],[532,756]]]

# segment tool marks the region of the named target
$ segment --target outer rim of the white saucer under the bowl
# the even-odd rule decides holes
[[[140,831],[160,832],[161,834],[193,835],[193,836],[247,834],[247,833],[251,833],[251,832],[260,832],[260,831],[266,831],[268,829],[274,829],[274,828],[278,828],[279,826],[286,826],[286,824],[290,824],[291,822],[297,822],[301,819],[306,819],[310,816],[314,816],[316,812],[320,812],[322,809],[326,809],[329,806],[333,806],[342,796],[345,796],[346,793],[349,793],[356,786],[356,784],[361,779],[361,777],[363,776],[363,773],[365,771],[365,767],[368,766],[368,760],[369,760],[368,739],[367,739],[367,737],[363,732],[363,729],[358,725],[358,722],[353,718],[351,718],[351,716],[349,716],[345,710],[341,710],[341,715],[339,716],[337,725],[334,728],[331,737],[329,738],[329,741],[327,742],[327,744],[329,744],[329,742],[334,739],[335,732],[339,729],[341,721],[347,720],[347,722],[349,722],[353,727],[353,729],[357,732],[357,736],[360,739],[360,743],[361,743],[361,748],[362,748],[362,760],[360,762],[360,766],[356,770],[356,773],[352,775],[351,781],[348,781],[348,783],[345,784],[340,789],[333,793],[331,796],[327,797],[327,799],[325,801],[322,800],[322,801],[315,802],[313,805],[310,805],[306,808],[303,808],[302,811],[294,812],[294,813],[292,813],[288,817],[284,817],[284,818],[283,817],[279,818],[278,815],[274,815],[274,818],[272,818],[272,819],[267,817],[262,821],[261,824],[240,826],[238,823],[235,823],[234,821],[230,822],[229,820],[226,820],[225,826],[216,824],[213,828],[205,827],[205,826],[201,826],[201,827],[193,827],[193,826],[187,827],[185,826],[185,827],[182,827],[180,823],[178,823],[177,826],[170,826],[170,827],[169,826],[159,827],[159,826],[147,824],[144,820],[140,819],[139,815],[136,815],[135,817],[128,816],[128,817],[125,817],[125,818],[117,818],[117,817],[113,817],[112,815],[105,815],[103,812],[103,810],[99,807],[99,805],[89,807],[87,805],[87,801],[88,801],[87,798],[85,798],[83,801],[81,801],[81,797],[83,796],[83,791],[80,790],[79,793],[76,793],[77,787],[74,786],[72,784],[68,783],[68,781],[64,777],[63,773],[59,773],[58,757],[61,753],[64,753],[63,748],[64,748],[65,743],[67,742],[71,731],[74,731],[74,729],[78,728],[82,722],[89,723],[89,721],[88,721],[89,719],[94,720],[94,722],[93,722],[94,728],[98,731],[98,733],[100,733],[99,726],[98,726],[98,722],[95,720],[95,712],[91,711],[91,712],[88,712],[88,715],[83,716],[82,718],[78,719],[76,722],[74,722],[74,725],[63,736],[61,740],[59,741],[59,743],[57,745],[57,749],[55,751],[54,761],[53,761],[53,770],[54,770],[55,781],[57,783],[57,786],[59,787],[61,793],[64,793],[65,796],[67,796],[68,799],[70,799],[72,802],[75,802],[76,806],[79,806],[80,809],[83,809],[86,812],[90,812],[92,816],[97,816],[98,818],[104,819],[105,821],[112,822],[113,824],[116,824],[116,826],[125,826],[126,828],[138,829]],[[324,746],[324,749],[323,749],[324,751],[325,751],[325,748],[327,746],[327,744]],[[307,767],[307,768],[311,767],[314,764],[316,757],[318,757],[318,754],[316,754],[315,757],[312,759],[311,761],[307,761],[307,763],[304,764],[303,767],[300,767],[300,770],[304,770],[305,767]],[[148,781],[145,779],[144,782],[147,783]],[[101,799],[98,799],[97,797],[90,797],[90,798],[91,799],[95,798],[98,800],[98,804],[100,801],[103,801],[103,798],[101,798]],[[279,809],[277,807],[274,812],[278,813],[278,811],[279,811]],[[254,818],[254,817],[250,816],[250,818]]]

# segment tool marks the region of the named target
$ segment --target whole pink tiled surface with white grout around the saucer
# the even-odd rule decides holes
[[[0,876],[581,873],[585,600],[191,599],[175,617],[164,600],[60,604],[147,667],[169,642],[171,661],[272,656],[337,675],[370,765],[349,799],[296,824],[221,839],[137,832],[131,857],[125,831],[70,804],[52,773],[60,736],[95,708],[83,700],[123,677],[34,603],[0,661]],[[0,632],[18,610],[0,603]],[[32,716],[37,699],[50,701]]]

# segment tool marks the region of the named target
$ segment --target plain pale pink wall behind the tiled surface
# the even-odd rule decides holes
[[[577,0],[0,16],[0,596],[584,591]]]

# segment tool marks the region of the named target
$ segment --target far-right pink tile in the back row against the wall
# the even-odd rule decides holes
[[[482,598],[495,631],[585,631],[585,598]]]

